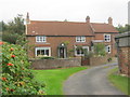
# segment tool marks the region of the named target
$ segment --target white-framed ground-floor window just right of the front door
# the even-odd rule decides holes
[[[89,52],[89,46],[82,46],[82,47],[75,47],[75,55],[76,56],[83,56],[84,52]]]

